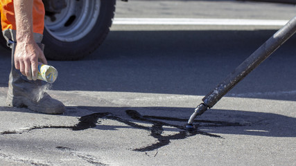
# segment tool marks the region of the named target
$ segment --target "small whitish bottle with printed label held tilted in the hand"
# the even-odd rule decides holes
[[[53,66],[39,63],[38,64],[38,80],[43,80],[49,83],[55,82],[58,77],[58,71]]]

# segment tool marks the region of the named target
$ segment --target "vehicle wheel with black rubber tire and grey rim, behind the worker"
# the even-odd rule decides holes
[[[67,7],[44,19],[44,55],[77,60],[100,46],[112,25],[116,0],[66,0]]]

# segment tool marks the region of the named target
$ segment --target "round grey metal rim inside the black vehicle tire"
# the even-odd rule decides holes
[[[85,37],[94,28],[101,7],[101,0],[55,0],[44,6],[48,3],[45,28],[61,42],[76,42]]]

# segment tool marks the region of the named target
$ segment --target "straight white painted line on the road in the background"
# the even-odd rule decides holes
[[[284,26],[281,19],[115,18],[117,25]]]

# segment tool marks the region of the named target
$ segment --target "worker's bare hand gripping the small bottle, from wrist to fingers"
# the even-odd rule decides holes
[[[38,59],[42,64],[47,64],[43,51],[35,42],[17,42],[15,68],[28,80],[37,80]]]

